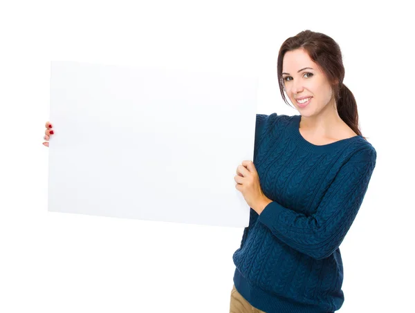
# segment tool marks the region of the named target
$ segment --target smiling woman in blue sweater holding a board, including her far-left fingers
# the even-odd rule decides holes
[[[277,75],[284,101],[285,92],[300,115],[257,115],[254,161],[237,167],[236,188],[251,209],[233,254],[230,313],[334,312],[344,302],[339,246],[362,204],[376,150],[358,128],[331,37],[306,30],[288,38]]]

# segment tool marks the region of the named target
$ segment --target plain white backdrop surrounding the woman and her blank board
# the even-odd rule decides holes
[[[50,60],[256,72],[258,113],[293,115],[277,53],[305,29],[340,44],[344,84],[378,152],[340,246],[339,312],[410,312],[415,79],[405,2],[1,2],[0,312],[229,312],[243,229],[47,211]],[[203,180],[210,164],[201,166]]]

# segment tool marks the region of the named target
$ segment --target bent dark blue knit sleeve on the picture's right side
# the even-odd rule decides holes
[[[273,201],[259,221],[293,249],[326,258],[338,249],[356,218],[375,165],[376,150],[362,149],[342,165],[315,214],[299,214]]]

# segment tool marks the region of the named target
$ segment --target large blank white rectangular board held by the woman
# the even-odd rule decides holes
[[[246,227],[257,77],[52,61],[48,211]]]

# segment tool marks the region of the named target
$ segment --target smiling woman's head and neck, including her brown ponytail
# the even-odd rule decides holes
[[[303,131],[339,140],[362,135],[344,72],[340,47],[331,37],[306,30],[284,42],[277,60],[279,89],[301,113]]]

